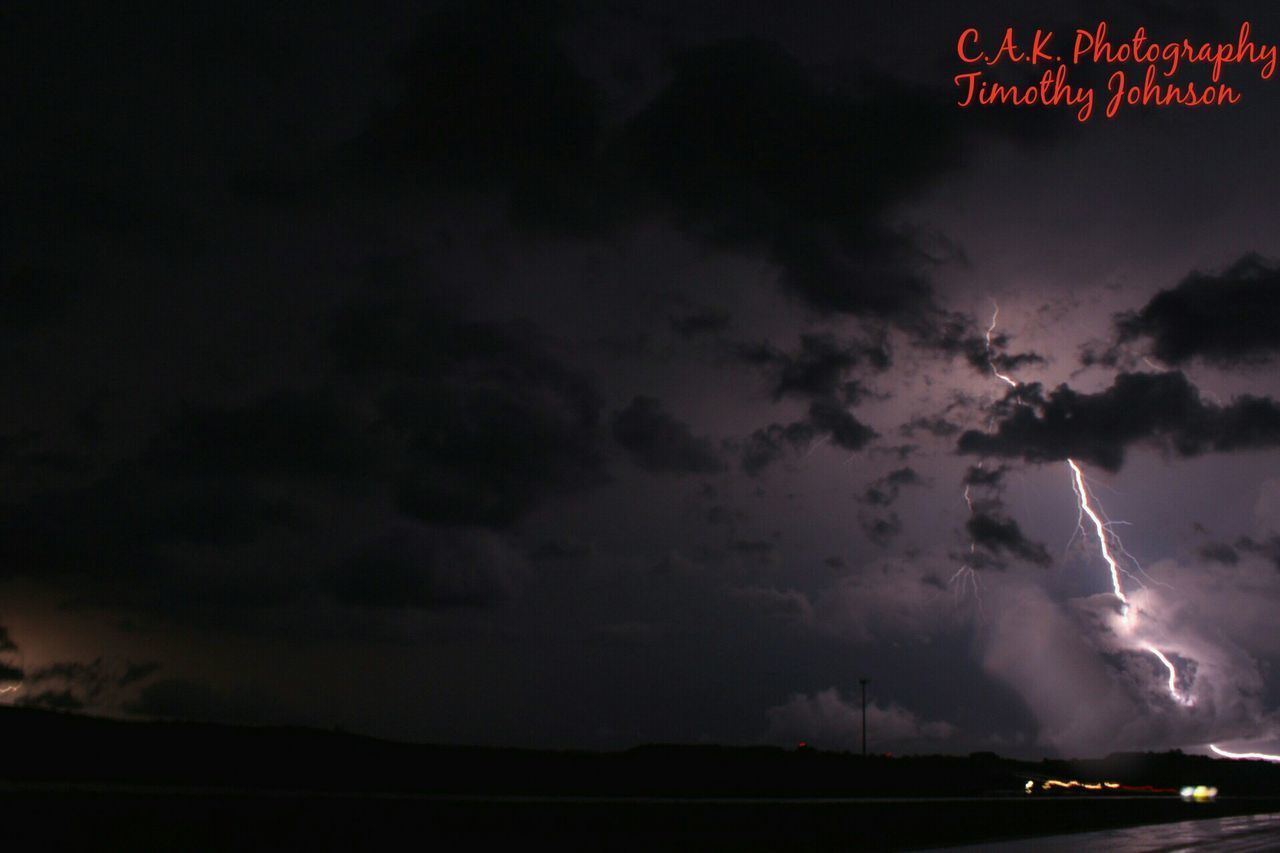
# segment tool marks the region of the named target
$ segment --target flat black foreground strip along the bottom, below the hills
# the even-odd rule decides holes
[[[6,847],[95,850],[369,850],[406,843],[460,850],[895,850],[1280,809],[1280,799],[531,802],[12,790],[0,803]]]

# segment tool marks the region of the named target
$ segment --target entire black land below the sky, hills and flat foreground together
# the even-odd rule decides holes
[[[1280,811],[1280,767],[778,747],[552,752],[0,710],[6,836],[91,849],[909,849]],[[1126,788],[1060,793],[1047,779]],[[1036,793],[1025,793],[1027,781]],[[1167,789],[1215,785],[1212,803]]]

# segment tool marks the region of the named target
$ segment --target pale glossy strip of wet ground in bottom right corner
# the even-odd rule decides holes
[[[943,850],[973,853],[979,849],[983,853],[1019,853],[1021,850],[1036,850],[1037,853],[1066,853],[1068,850],[1071,853],[1076,850],[1107,850],[1107,853],[1220,850],[1222,853],[1243,853],[1245,850],[1277,850],[1280,849],[1280,813],[1242,815],[1179,824],[1130,826],[1102,833],[1075,833],[1019,841],[948,847],[938,848],[934,853],[943,853]]]

